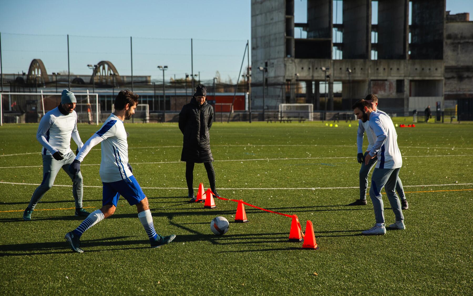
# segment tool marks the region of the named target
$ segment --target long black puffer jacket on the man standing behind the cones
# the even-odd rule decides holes
[[[184,135],[181,161],[211,162],[209,130],[213,121],[213,108],[207,101],[199,105],[195,98],[179,113],[179,129]]]

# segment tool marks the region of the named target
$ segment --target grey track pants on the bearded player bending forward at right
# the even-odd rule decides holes
[[[399,170],[397,169],[377,169],[373,171],[371,176],[371,188],[369,188],[369,197],[373,202],[373,208],[375,210],[376,223],[385,223],[384,219],[384,204],[383,197],[381,196],[381,189],[385,188],[387,198],[391,204],[396,221],[404,220],[403,210],[401,209],[401,201],[396,195],[394,188],[396,187],[396,179],[399,176]]]

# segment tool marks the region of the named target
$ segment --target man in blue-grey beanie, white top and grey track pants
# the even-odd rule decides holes
[[[36,188],[31,197],[29,205],[23,213],[25,221],[31,220],[31,213],[39,200],[54,183],[57,173],[61,168],[72,179],[72,195],[76,206],[76,216],[88,216],[88,212],[82,208],[82,175],[73,178],[69,172],[69,165],[74,161],[76,155],[70,149],[70,138],[76,142],[80,149],[83,145],[77,130],[76,97],[69,90],[61,93],[61,104],[53,110],[44,114],[38,126],[36,139],[43,145],[41,156],[43,157],[43,181]]]

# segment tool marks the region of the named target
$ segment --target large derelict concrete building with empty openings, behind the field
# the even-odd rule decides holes
[[[260,66],[267,68],[266,109],[313,103],[324,110],[325,80],[327,110],[349,110],[368,93],[384,110],[404,112],[434,109],[438,101],[443,109],[444,93],[472,95],[472,22],[446,15],[445,0],[306,2],[307,22],[296,23],[294,0],[251,1],[254,110],[263,108]],[[335,22],[336,9],[342,21]],[[334,96],[334,84],[341,96]]]

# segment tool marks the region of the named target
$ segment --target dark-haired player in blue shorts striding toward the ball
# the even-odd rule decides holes
[[[115,98],[115,111],[103,126],[87,140],[76,159],[69,167],[71,174],[80,172],[80,162],[96,144],[101,143],[102,161],[100,178],[102,179],[102,208],[96,210],[73,231],[66,233],[65,239],[73,251],[82,253],[80,236],[90,227],[114,214],[118,198],[123,196],[131,206],[136,205],[138,218],[145,228],[152,248],[158,248],[174,240],[175,235],[161,236],[156,233],[153,217],[149,211],[148,198],[141,190],[128,164],[128,142],[123,121],[130,119],[138,105],[138,95],[130,90],[121,90]]]

